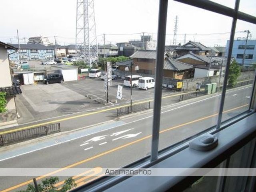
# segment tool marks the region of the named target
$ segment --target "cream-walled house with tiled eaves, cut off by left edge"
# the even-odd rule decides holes
[[[7,101],[7,111],[0,114],[0,126],[17,122],[14,97],[16,94],[21,94],[20,87],[12,82],[8,50],[13,50],[13,53],[16,52],[14,46],[0,42],[0,92],[6,93]]]

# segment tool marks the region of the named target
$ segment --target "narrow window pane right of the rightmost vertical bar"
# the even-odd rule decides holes
[[[242,2],[240,2],[240,4],[242,4]],[[245,28],[246,30],[242,30]],[[255,44],[256,40],[252,40],[253,36],[249,38],[254,30],[254,24],[237,20],[236,31],[242,32],[235,33],[222,121],[249,110],[256,66],[255,53],[252,49],[239,49],[239,46],[240,48],[241,46],[245,48],[246,43],[248,45]],[[248,39],[246,42],[247,35]],[[229,41],[227,41],[227,47],[228,46]]]

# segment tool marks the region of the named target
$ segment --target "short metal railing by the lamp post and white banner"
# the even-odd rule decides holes
[[[147,109],[150,109],[150,102],[134,104],[132,105],[132,110],[131,110],[131,106],[125,106],[117,109],[117,116],[129,114],[131,112],[143,111]]]

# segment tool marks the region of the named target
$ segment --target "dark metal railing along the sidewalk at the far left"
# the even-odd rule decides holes
[[[0,145],[60,132],[60,123],[0,135]]]

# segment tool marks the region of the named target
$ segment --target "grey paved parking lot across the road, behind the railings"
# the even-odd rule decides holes
[[[130,102],[130,87],[123,87],[122,100],[117,100],[118,84],[123,80],[113,80],[109,87],[109,103],[118,105]],[[16,105],[20,118],[19,123],[42,120],[46,118],[73,114],[94,108],[106,106],[104,80],[85,78],[62,84],[31,84],[21,86],[22,94],[16,97]],[[163,94],[171,94],[170,90],[163,90]],[[154,97],[154,89],[140,90],[132,88],[132,99],[144,100]]]

